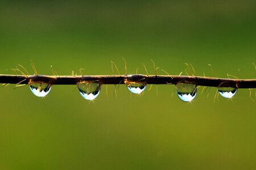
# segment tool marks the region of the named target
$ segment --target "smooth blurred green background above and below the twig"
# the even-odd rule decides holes
[[[0,1],[0,73],[196,75],[255,78],[256,1]],[[213,73],[210,71],[212,65]],[[159,74],[165,74],[160,71]],[[0,88],[0,169],[255,169],[256,105],[249,90],[192,103],[175,86],[131,95],[102,86],[94,102],[76,86],[47,97]],[[174,95],[172,96],[172,94]],[[251,91],[255,100],[255,90]],[[208,97],[207,97],[208,96]]]

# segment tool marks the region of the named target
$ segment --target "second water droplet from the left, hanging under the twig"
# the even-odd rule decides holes
[[[100,94],[101,84],[88,82],[80,83],[78,84],[78,89],[84,99],[93,100]]]

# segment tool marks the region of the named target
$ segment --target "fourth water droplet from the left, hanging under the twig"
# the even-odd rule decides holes
[[[188,102],[196,97],[197,88],[195,84],[177,83],[176,93],[180,100]]]

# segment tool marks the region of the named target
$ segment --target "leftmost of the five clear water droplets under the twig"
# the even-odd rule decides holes
[[[51,90],[52,86],[48,83],[31,83],[30,90],[38,97],[46,96]]]

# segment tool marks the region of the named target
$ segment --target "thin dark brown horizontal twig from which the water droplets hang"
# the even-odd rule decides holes
[[[80,82],[98,82],[100,84],[126,84],[139,82],[146,84],[177,84],[191,83],[196,86],[256,88],[256,79],[226,79],[204,76],[183,75],[81,75],[81,76],[52,76],[52,75],[3,75],[0,74],[0,83],[30,84],[44,82],[49,84],[79,84]]]

